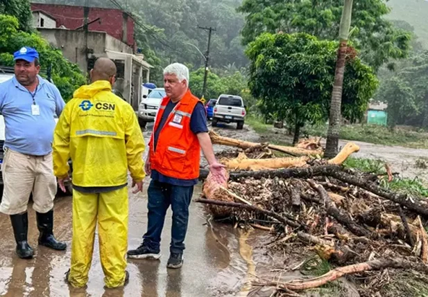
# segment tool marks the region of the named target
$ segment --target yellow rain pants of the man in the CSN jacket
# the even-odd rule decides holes
[[[99,194],[73,191],[73,241],[69,282],[74,287],[84,287],[87,284],[97,218],[105,286],[121,287],[125,282],[128,249],[127,187]]]

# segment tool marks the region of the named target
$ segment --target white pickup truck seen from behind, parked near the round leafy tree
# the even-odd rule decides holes
[[[214,106],[214,116],[212,118],[212,127],[217,123],[237,123],[237,129],[243,128],[246,116],[246,106],[239,96],[220,95]]]

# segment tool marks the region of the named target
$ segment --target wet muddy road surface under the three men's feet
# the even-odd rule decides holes
[[[150,127],[146,129],[150,130]],[[147,140],[149,132],[144,132]],[[148,141],[147,141],[148,142]],[[144,193],[129,191],[130,216],[128,247],[135,248],[142,241],[147,226],[146,188]],[[200,195],[196,187],[194,198]],[[171,210],[162,233],[160,261],[128,260],[130,282],[123,289],[103,288],[103,272],[99,259],[98,240],[95,242],[92,268],[86,289],[74,289],[65,282],[71,256],[71,197],[55,201],[55,236],[67,242],[67,251],[51,251],[37,246],[37,227],[34,210],[29,206],[28,240],[35,249],[32,260],[15,255],[15,240],[8,216],[0,214],[0,296],[237,296],[246,279],[248,264],[239,251],[239,231],[230,226],[207,224],[203,206],[191,204],[187,232],[185,263],[182,269],[166,269],[169,257]],[[241,244],[242,245],[242,244]],[[247,251],[248,252],[248,251]],[[241,296],[241,295],[239,295]]]

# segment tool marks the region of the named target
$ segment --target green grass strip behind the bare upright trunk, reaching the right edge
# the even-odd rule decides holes
[[[303,133],[327,138],[327,125],[307,126],[303,129]],[[400,127],[392,131],[388,127],[378,125],[343,125],[339,137],[348,141],[363,141],[379,145],[428,148],[427,132]]]

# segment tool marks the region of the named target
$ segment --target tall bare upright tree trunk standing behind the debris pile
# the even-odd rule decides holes
[[[339,131],[341,129],[341,105],[343,93],[343,76],[345,73],[346,50],[348,48],[348,35],[351,26],[352,0],[344,0],[343,13],[339,30],[339,52],[337,55],[336,71],[330,105],[329,127],[327,143],[325,145],[325,158],[332,159],[337,154],[339,145]]]

